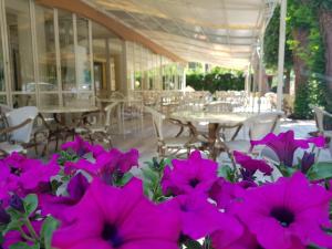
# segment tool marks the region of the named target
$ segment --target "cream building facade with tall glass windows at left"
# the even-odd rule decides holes
[[[92,104],[112,91],[181,90],[183,62],[37,0],[0,0],[0,103]]]

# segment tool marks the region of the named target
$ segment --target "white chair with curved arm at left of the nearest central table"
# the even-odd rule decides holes
[[[158,139],[157,152],[159,157],[166,156],[180,156],[185,151],[189,155],[191,148],[197,148],[201,144],[195,138],[195,136],[175,136],[175,137],[165,137],[163,133],[163,123],[166,120],[166,116],[158,111],[145,106],[145,111],[152,115],[153,126],[155,134]]]

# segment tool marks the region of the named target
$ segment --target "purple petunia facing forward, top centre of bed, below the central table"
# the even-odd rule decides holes
[[[217,164],[201,158],[198,151],[191,153],[188,159],[174,159],[172,164],[174,168],[166,167],[162,179],[165,195],[207,193],[217,179]]]

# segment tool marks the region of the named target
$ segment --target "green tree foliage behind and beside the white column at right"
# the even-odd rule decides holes
[[[321,4],[325,6],[326,2],[332,1],[319,0],[311,2],[315,2],[319,7],[322,7]],[[278,66],[279,21],[280,9],[278,8],[270,20],[264,37],[264,64],[268,70],[273,72],[276,72]],[[308,45],[304,48],[301,48],[299,41],[292,37],[294,29],[309,31]],[[293,56],[299,56],[305,62],[307,69],[303,69],[301,74],[308,76],[308,82],[302,83],[304,85],[297,86],[293,117],[312,118],[309,104],[326,105],[324,44],[315,8],[312,8],[311,4],[303,4],[300,0],[288,1],[284,60],[284,68],[287,70],[292,70]]]

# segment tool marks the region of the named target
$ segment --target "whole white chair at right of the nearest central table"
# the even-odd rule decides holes
[[[274,133],[282,114],[282,112],[262,113],[248,118],[243,124],[243,128],[247,128],[249,139],[236,139],[236,137],[234,137],[229,142],[224,142],[227,153],[232,153],[234,151],[250,153],[250,141],[258,141],[269,133]]]

